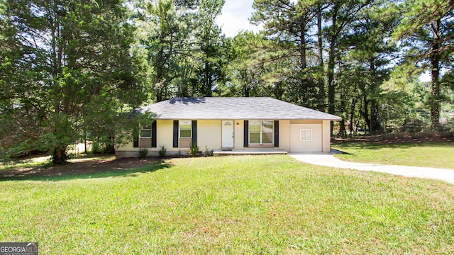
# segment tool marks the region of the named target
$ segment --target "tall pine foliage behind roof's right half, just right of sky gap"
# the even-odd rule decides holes
[[[269,40],[254,55],[268,72],[263,79],[271,84],[275,98],[310,108],[323,108],[323,74],[318,66],[323,56],[309,51],[309,31],[319,13],[320,1],[256,0],[251,21],[262,24]],[[318,57],[318,60],[317,60]]]

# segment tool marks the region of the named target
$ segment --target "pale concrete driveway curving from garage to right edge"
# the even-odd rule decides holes
[[[344,162],[341,159],[333,156],[333,154],[337,153],[340,152],[332,150],[331,153],[289,153],[289,155],[301,162],[319,166],[331,166],[344,169],[355,169],[360,171],[379,171],[399,176],[436,179],[454,184],[454,169],[436,169],[431,167]]]

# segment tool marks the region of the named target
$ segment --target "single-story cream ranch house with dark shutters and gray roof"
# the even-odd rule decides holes
[[[330,126],[336,115],[274,98],[175,98],[138,111],[151,111],[155,121],[116,149],[116,157],[138,157],[140,148],[157,156],[187,154],[195,142],[201,150],[280,150],[329,152]]]

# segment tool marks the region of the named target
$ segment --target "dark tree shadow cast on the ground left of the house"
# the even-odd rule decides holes
[[[42,166],[0,171],[0,181],[65,181],[117,176],[128,177],[170,168],[171,166],[172,164],[163,159],[152,157],[146,159],[85,158],[74,159],[62,165],[43,164]]]

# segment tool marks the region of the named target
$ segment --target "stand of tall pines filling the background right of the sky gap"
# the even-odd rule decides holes
[[[251,22],[264,27],[263,40],[247,33],[233,40],[233,49],[244,54],[239,55],[241,64],[235,63],[239,68],[233,68],[233,77],[240,77],[236,84],[253,84],[248,77],[255,73],[255,80],[261,79],[259,86],[269,86],[269,95],[254,96],[272,96],[321,111],[327,106],[328,113],[343,117],[340,135],[355,132],[355,126],[370,132],[389,130],[419,118],[427,108],[421,105],[430,106],[432,122],[438,121],[434,114],[439,106],[434,102],[451,98],[453,91],[434,90],[433,85],[425,94],[396,89],[402,84],[421,86],[419,74],[434,63],[431,52],[444,68],[438,74],[449,74],[442,72],[450,69],[454,49],[453,6],[448,1],[427,5],[411,0],[256,0],[253,7]],[[450,86],[449,80],[441,79],[441,84]],[[238,86],[231,91],[238,94]]]

